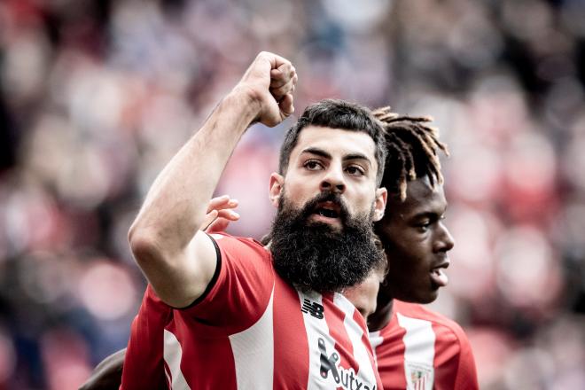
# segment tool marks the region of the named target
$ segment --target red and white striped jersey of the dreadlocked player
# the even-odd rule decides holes
[[[479,389],[464,331],[428,308],[394,300],[390,323],[370,342],[385,390]]]

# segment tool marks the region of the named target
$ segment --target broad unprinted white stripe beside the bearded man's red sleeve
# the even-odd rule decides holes
[[[272,390],[274,378],[274,285],[268,307],[250,328],[230,336],[238,389]]]

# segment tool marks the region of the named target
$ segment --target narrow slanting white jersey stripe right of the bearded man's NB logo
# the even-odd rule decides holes
[[[346,327],[347,334],[351,340],[352,346],[354,347],[354,358],[359,364],[359,372],[357,372],[358,378],[364,383],[376,384],[376,374],[371,366],[370,356],[366,346],[363,345],[363,330],[359,324],[355,322],[355,306],[346,297],[339,293],[335,293],[333,298],[335,305],[341,308],[346,313],[346,318],[343,320],[343,324]]]

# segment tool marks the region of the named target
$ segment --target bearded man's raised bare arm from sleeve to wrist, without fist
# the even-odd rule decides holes
[[[129,230],[136,262],[171,306],[190,304],[213,277],[214,253],[201,246],[205,238],[194,238],[231,152],[257,115],[255,107],[246,91],[224,98],[162,170]]]

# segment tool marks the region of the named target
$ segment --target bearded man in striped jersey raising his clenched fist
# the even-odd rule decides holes
[[[160,339],[172,388],[381,386],[363,316],[339,293],[384,261],[371,225],[386,206],[386,149],[369,110],[325,100],[287,132],[269,181],[278,210],[269,246],[199,230],[240,136],[292,113],[296,81],[288,60],[259,54],[162,170],[129,230],[149,291],[175,308]],[[141,308],[122,388],[147,378],[138,362],[148,346],[132,339],[156,315]]]

